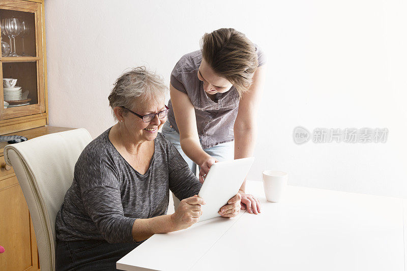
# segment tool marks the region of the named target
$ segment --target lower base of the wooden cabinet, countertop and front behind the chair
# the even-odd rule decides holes
[[[28,139],[73,128],[44,126],[18,134]],[[12,135],[9,134],[9,135]],[[12,167],[6,166],[3,149],[7,142],[0,142],[0,270],[39,270],[37,241],[27,203]]]

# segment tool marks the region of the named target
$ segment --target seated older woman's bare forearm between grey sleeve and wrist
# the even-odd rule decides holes
[[[176,231],[171,221],[171,215],[154,218],[136,219],[132,228],[133,239],[137,242],[146,240],[156,233]]]

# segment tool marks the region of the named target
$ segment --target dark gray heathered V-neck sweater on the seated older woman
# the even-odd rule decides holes
[[[140,174],[112,145],[109,131],[89,143],[76,162],[72,186],[56,216],[59,240],[137,243],[132,237],[134,221],[165,215],[169,189],[184,199],[201,188],[177,149],[161,133],[154,140],[148,171]]]

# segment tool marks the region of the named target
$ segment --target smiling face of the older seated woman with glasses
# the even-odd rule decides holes
[[[159,100],[145,102],[135,101],[129,109],[139,115],[147,115],[158,113],[166,108],[164,100]],[[165,116],[164,118],[158,118],[158,115],[156,115],[151,122],[144,123],[142,118],[127,111],[126,113],[122,114],[121,117],[118,116],[118,119],[122,128],[126,130],[128,135],[130,135],[131,140],[133,142],[139,142],[154,140],[157,137],[158,129],[160,129],[165,123],[167,117]]]

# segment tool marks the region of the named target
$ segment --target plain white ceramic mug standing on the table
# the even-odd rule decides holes
[[[261,177],[266,199],[271,202],[279,202],[287,186],[288,174],[279,170],[265,170]]]

